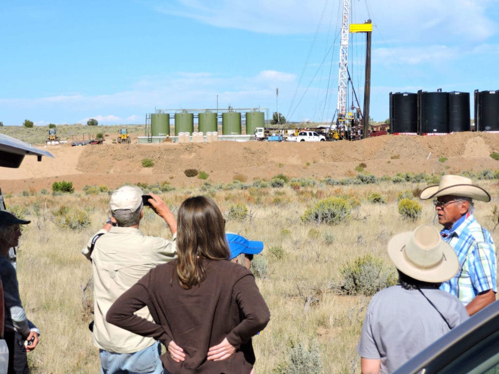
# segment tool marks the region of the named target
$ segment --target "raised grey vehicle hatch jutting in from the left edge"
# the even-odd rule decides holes
[[[11,136],[0,134],[0,167],[18,168],[26,155],[35,155],[38,161],[41,161],[42,156],[53,157],[50,152],[34,148]]]

